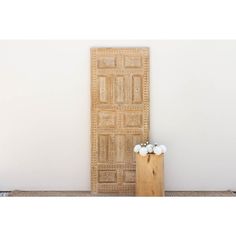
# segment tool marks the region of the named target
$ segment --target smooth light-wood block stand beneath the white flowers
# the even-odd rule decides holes
[[[136,156],[136,196],[164,196],[164,156]]]

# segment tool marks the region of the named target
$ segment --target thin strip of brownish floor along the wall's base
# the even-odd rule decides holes
[[[92,197],[111,196],[94,195],[86,191],[12,191],[5,193],[10,197]],[[114,196],[114,195],[113,195]],[[166,191],[167,197],[236,197],[232,191]]]

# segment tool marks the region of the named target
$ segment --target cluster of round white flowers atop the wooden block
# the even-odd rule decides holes
[[[134,146],[134,152],[139,153],[141,156],[146,156],[147,154],[156,154],[156,155],[161,155],[166,153],[167,148],[165,145],[157,145],[155,143],[154,145],[146,142],[146,143],[141,143],[141,144],[136,144]]]

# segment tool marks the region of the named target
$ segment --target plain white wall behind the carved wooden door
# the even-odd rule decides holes
[[[167,190],[236,190],[236,41],[0,41],[0,190],[90,189],[92,46],[149,46]]]

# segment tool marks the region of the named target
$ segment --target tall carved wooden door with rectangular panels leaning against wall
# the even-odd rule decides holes
[[[135,144],[149,135],[149,49],[91,49],[91,190],[135,193]]]

